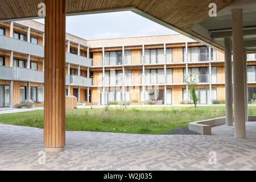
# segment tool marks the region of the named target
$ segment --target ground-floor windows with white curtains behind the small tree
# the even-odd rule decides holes
[[[196,93],[200,97],[199,104],[212,104],[212,101],[217,100],[217,88],[212,88],[211,100],[209,88],[197,88]],[[182,89],[182,96],[184,101],[191,101],[191,98],[187,95],[187,89]]]

